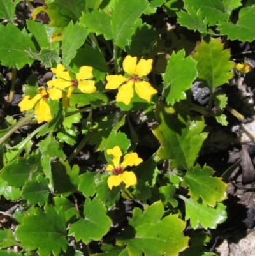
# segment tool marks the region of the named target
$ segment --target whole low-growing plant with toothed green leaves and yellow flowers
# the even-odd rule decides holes
[[[254,40],[255,5],[34,2],[0,3],[9,104],[18,73],[30,72],[0,130],[0,195],[15,204],[0,255],[215,255],[203,230],[226,220],[227,184],[197,158],[206,119],[228,124],[219,87],[235,63],[223,42]],[[184,32],[154,20],[162,15]],[[38,64],[52,77],[39,80]],[[207,105],[194,101],[195,82]]]

